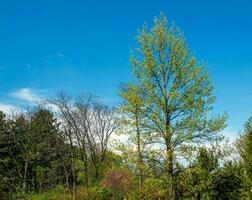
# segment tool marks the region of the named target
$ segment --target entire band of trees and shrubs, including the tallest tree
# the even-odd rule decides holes
[[[206,67],[164,15],[137,43],[118,106],[60,93],[28,112],[1,112],[3,199],[252,198],[252,119],[225,145],[227,116],[212,112]]]

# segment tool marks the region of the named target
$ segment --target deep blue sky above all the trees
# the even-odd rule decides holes
[[[204,60],[229,115],[229,134],[252,113],[252,3],[249,0],[1,0],[0,108],[64,90],[117,102],[132,79],[129,54],[144,23],[163,11]]]

